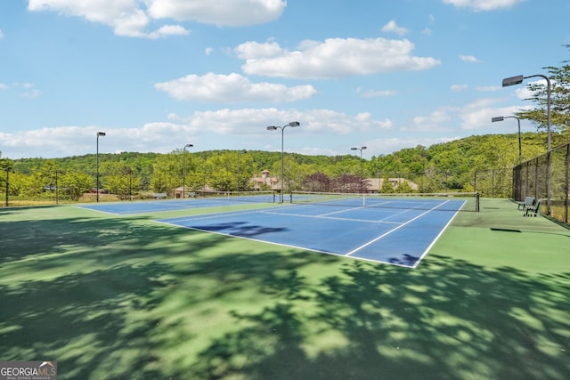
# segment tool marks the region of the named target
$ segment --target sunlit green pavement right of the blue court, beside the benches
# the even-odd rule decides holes
[[[489,268],[570,271],[570,226],[523,214],[508,199],[483,198],[480,212],[458,214],[430,254]]]

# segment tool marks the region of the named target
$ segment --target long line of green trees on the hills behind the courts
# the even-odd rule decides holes
[[[565,133],[554,133],[554,137],[553,141],[567,141]],[[545,138],[545,133],[523,133],[523,158],[542,154]],[[417,183],[423,192],[473,191],[476,171],[504,169],[501,173],[509,176],[517,166],[517,133],[470,136],[430,147],[418,145],[370,160],[354,155],[285,153],[283,163],[286,191],[359,192],[369,188],[367,179],[394,177]],[[93,154],[50,159],[3,158],[0,166],[9,175],[10,197],[54,198],[57,188],[61,199],[77,201],[97,186]],[[99,187],[122,199],[140,197],[145,192],[173,196],[183,184],[189,192],[253,190],[253,178],[261,176],[263,170],[269,170],[269,175],[281,183],[281,152],[174,150],[167,154],[99,154]],[[0,177],[0,191],[5,188],[6,177]],[[509,182],[509,178],[504,181]],[[398,187],[387,183],[384,181],[380,192],[411,192],[407,182]],[[272,189],[265,184],[259,190]],[[510,193],[502,195],[509,197]]]

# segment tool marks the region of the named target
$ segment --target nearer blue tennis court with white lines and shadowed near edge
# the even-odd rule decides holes
[[[461,200],[408,209],[283,205],[157,222],[413,268],[462,205]]]

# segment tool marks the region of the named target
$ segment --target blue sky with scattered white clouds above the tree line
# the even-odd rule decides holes
[[[570,59],[568,14],[568,0],[2,0],[1,157],[282,143],[370,159],[517,133],[491,118],[533,108],[526,85],[543,79],[502,79]]]

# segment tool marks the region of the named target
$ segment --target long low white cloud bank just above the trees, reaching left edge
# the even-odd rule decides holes
[[[58,126],[14,133],[0,132],[2,156],[8,158],[68,157],[93,153],[98,131],[107,135],[99,141],[100,152],[159,152],[168,153],[194,144],[194,150],[235,149],[221,146],[218,135],[232,135],[242,141],[242,148],[263,150],[281,148],[281,138],[272,135],[266,125],[299,121],[298,128],[289,134],[303,134],[315,139],[326,134],[350,135],[385,131],[392,128],[388,119],[375,120],[369,113],[347,115],[330,109],[216,109],[194,112],[189,116],[168,114],[166,121],[151,122],[135,128],[116,128],[105,125]],[[269,141],[269,142],[268,142]],[[298,140],[297,140],[298,141]],[[299,141],[300,142],[300,141]],[[241,144],[240,144],[241,145]],[[290,147],[290,145],[289,145]],[[290,149],[290,148],[289,148]],[[300,151],[298,148],[295,151]]]

